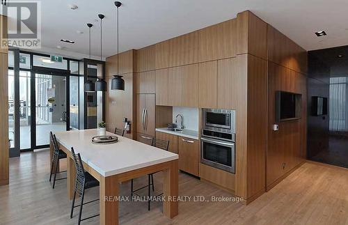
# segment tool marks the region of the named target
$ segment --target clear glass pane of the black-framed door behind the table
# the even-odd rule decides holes
[[[68,130],[68,76],[35,72],[35,146],[49,145],[49,132]]]

